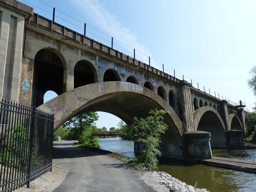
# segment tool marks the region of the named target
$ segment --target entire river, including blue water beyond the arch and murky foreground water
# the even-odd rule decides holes
[[[133,141],[116,137],[100,138],[99,142],[104,150],[135,156]],[[256,150],[253,149],[213,149],[212,154],[256,161]],[[167,172],[186,184],[194,186],[195,182],[198,182],[198,188],[206,188],[210,192],[256,192],[256,174],[173,159],[161,162],[158,168],[159,171]]]

